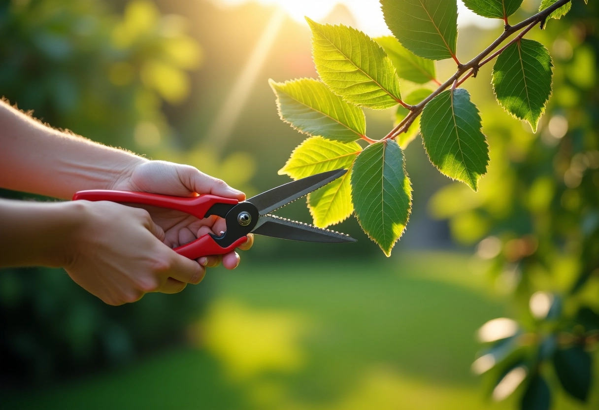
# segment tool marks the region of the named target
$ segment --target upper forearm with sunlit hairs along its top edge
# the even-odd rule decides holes
[[[120,149],[42,125],[0,101],[0,187],[56,198],[108,189],[140,162]]]

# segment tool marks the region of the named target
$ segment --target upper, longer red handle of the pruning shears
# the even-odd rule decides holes
[[[149,192],[108,191],[103,189],[79,191],[73,196],[73,200],[113,201],[159,206],[161,208],[180,210],[199,219],[204,218],[208,209],[214,204],[237,205],[239,203],[236,199],[223,198],[210,194],[203,194],[198,197],[171,197],[170,195],[150,194]]]

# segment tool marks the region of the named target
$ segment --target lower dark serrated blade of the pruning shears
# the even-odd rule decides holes
[[[351,236],[279,218],[274,215],[260,216],[253,233],[281,239],[302,240],[304,242],[346,243],[356,242]]]

